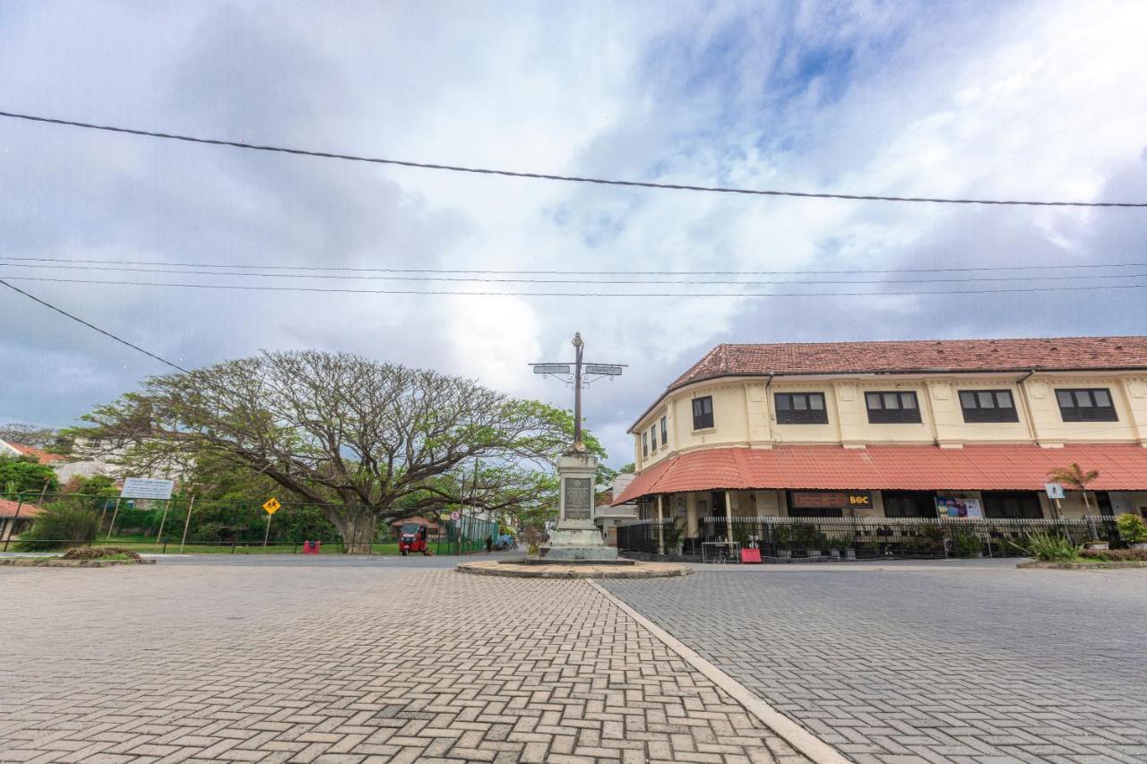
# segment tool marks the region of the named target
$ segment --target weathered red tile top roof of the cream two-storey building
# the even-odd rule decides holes
[[[1147,336],[724,344],[669,389],[719,376],[1147,368]]]

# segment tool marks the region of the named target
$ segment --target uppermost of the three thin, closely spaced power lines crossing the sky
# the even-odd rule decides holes
[[[103,260],[93,258],[63,257],[9,257],[0,255],[0,260],[14,263],[92,263],[97,265],[156,265],[188,268],[262,268],[264,271],[327,271],[351,273],[481,273],[491,275],[849,275],[867,273],[980,273],[999,271],[1058,271],[1080,268],[1139,268],[1147,263],[1071,263],[1063,265],[980,265],[946,268],[858,268],[851,271],[548,271],[548,270],[490,270],[490,268],[365,268],[336,267],[328,265],[258,265],[240,263],[167,263],[164,260]],[[44,266],[47,267],[47,266]],[[211,273],[205,271],[204,273]],[[1085,276],[1090,278],[1090,276]]]

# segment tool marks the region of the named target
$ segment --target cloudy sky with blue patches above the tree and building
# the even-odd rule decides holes
[[[897,196],[1147,201],[1147,5],[1032,2],[0,3],[0,110],[418,162]],[[627,364],[585,393],[609,462],[721,342],[1145,334],[1117,275],[912,287],[598,284],[590,271],[1147,263],[1147,210],[733,196],[468,176],[0,119],[0,257],[574,271],[572,284],[72,278],[559,297],[237,291],[14,280],[184,366],[315,348],[571,405],[530,373]],[[26,265],[26,260],[23,262]],[[47,265],[44,262],[41,265]],[[56,263],[61,266],[60,263]],[[1141,279],[1134,279],[1144,273]],[[937,278],[936,274],[931,274]],[[946,278],[960,274],[944,274]],[[992,272],[963,274],[993,275]],[[506,276],[504,276],[506,278]],[[513,276],[510,276],[513,278]],[[522,278],[522,276],[517,276]],[[526,276],[529,278],[529,276]],[[833,280],[881,281],[856,287]],[[700,297],[702,291],[868,291]],[[0,290],[0,421],[64,426],[166,369]]]

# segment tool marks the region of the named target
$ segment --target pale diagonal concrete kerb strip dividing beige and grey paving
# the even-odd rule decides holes
[[[646,618],[612,593],[606,591],[600,584],[593,580],[587,580],[586,584],[598,590],[602,597],[608,599],[622,611],[637,621],[642,629],[661,640],[665,647],[680,655],[686,663],[704,675],[705,678],[717,685],[720,689],[728,693],[736,702],[744,707],[744,710],[757,717],[762,724],[785,739],[785,742],[795,748],[797,751],[811,761],[818,762],[818,764],[851,764],[850,759],[843,754],[774,709],[765,701],[757,697],[740,681],[703,658],[696,650],[688,647],[681,640],[677,639],[668,631]]]

